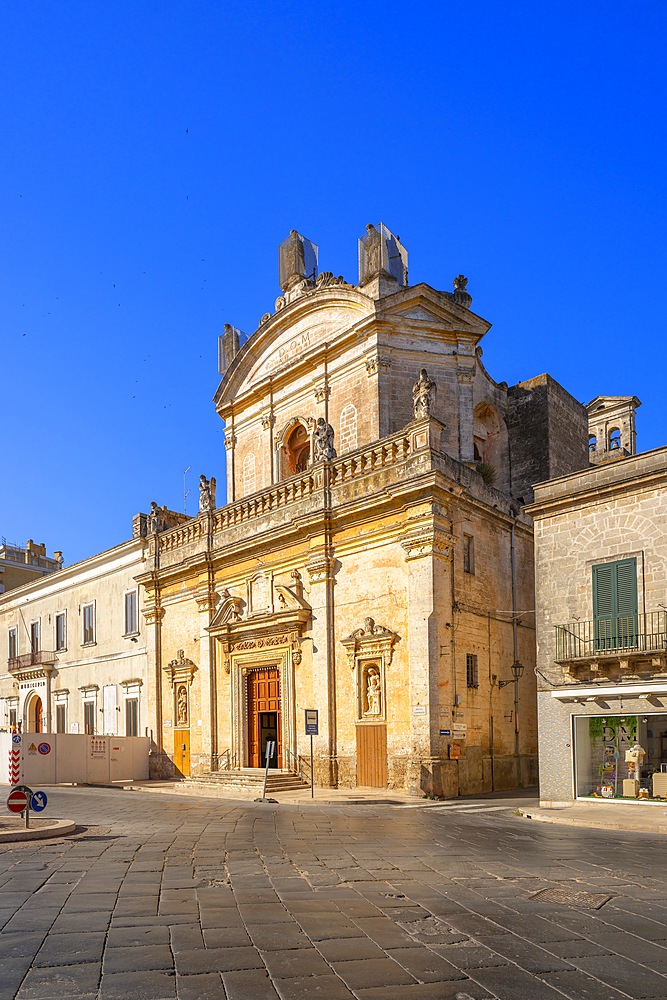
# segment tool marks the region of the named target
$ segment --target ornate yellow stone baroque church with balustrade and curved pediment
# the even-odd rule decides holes
[[[143,518],[152,773],[271,765],[425,795],[537,778],[532,484],[586,468],[584,406],[482,363],[490,324],[409,284],[384,225],[356,284],[293,230],[275,310],[226,326],[227,496]],[[313,718],[313,716],[311,716]]]

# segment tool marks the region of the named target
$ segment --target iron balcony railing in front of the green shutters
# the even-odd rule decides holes
[[[556,626],[556,659],[585,660],[667,651],[667,612],[614,615]]]

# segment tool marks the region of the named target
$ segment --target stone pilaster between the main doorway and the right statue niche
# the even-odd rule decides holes
[[[307,708],[319,710],[319,736],[315,745],[315,783],[338,784],[336,740],[336,651],[334,648],[334,558],[331,550],[313,555],[306,564],[310,580],[309,603],[313,609],[313,698]]]

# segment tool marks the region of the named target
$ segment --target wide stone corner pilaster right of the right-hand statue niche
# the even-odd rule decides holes
[[[450,527],[431,516],[401,539],[408,564],[410,787],[436,795],[457,794],[456,781],[451,780],[456,775],[445,773],[440,750],[440,727],[443,719],[451,722],[454,701],[453,664],[445,629],[451,624],[452,607]],[[449,662],[443,663],[441,654]]]

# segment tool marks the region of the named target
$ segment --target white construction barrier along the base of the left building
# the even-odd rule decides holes
[[[149,746],[147,736],[0,733],[0,784],[146,781]]]

